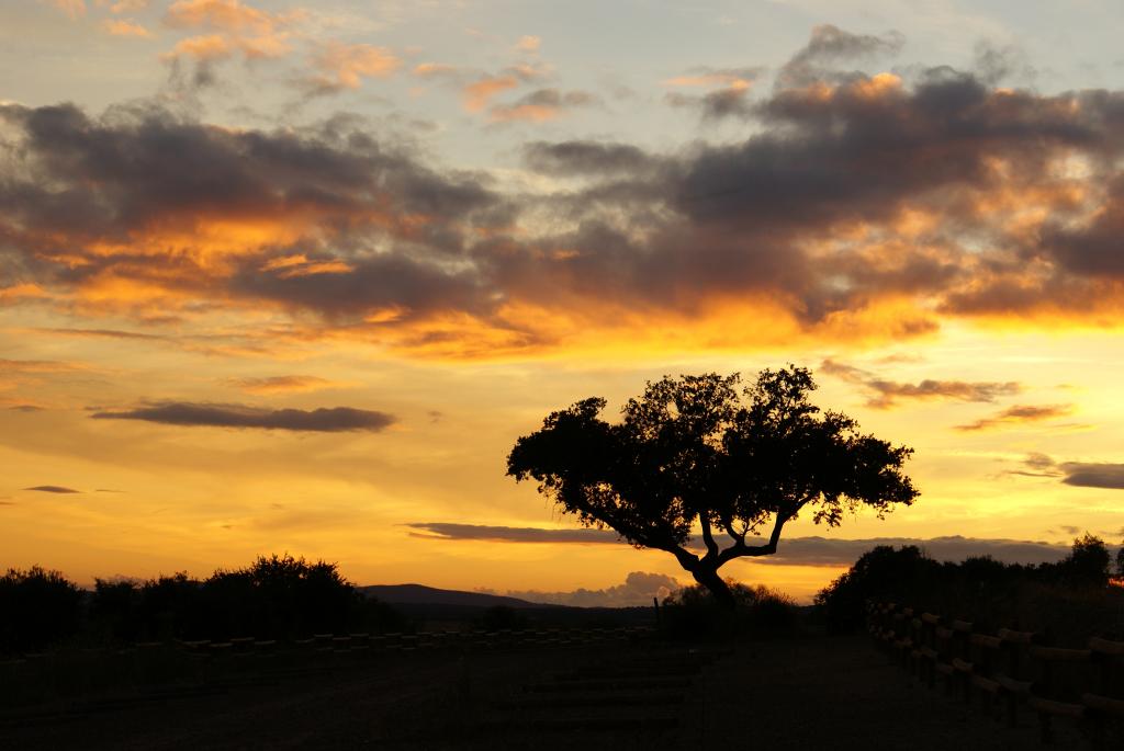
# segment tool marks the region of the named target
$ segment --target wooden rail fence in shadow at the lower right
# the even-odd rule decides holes
[[[869,602],[870,634],[930,688],[978,704],[1014,726],[1033,713],[1043,743],[1053,722],[1076,723],[1095,749],[1124,736],[1124,641],[1091,636],[1084,649],[1055,647],[1041,633],[999,629]],[[1122,748],[1122,747],[1114,747]]]

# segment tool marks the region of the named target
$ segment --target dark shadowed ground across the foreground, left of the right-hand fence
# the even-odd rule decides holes
[[[865,638],[339,656],[155,694],[10,711],[0,749],[1035,749]],[[1081,748],[1060,727],[1057,748]]]

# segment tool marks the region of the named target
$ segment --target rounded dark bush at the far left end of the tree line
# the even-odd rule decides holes
[[[82,590],[58,571],[9,568],[0,577],[0,652],[36,651],[73,636],[82,599]]]

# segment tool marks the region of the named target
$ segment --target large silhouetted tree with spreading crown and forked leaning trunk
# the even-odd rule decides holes
[[[616,424],[598,416],[604,399],[583,400],[519,438],[507,473],[536,479],[586,525],[672,553],[727,607],[736,599],[718,569],[774,553],[785,524],[805,510],[836,526],[846,510],[867,505],[881,518],[891,504],[914,501],[917,491],[901,473],[912,449],[821,412],[808,401],[816,386],[806,368],[762,370],[742,395],[738,381],[707,374],[649,382]],[[696,524],[701,556],[688,550]],[[750,535],[765,525],[768,539],[755,543]]]

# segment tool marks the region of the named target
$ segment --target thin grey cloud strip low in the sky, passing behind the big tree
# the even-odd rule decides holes
[[[414,523],[407,526],[422,530],[417,537],[437,540],[480,540],[487,542],[553,542],[553,543],[617,543],[623,542],[611,530],[550,530],[518,526],[484,526],[478,524]],[[760,542],[763,542],[760,541]],[[1069,548],[1052,542],[966,538],[961,535],[918,538],[870,538],[837,540],[824,537],[782,539],[772,556],[754,558],[753,562],[785,566],[850,566],[862,553],[876,546],[917,546],[937,560],[959,561],[972,556],[991,556],[996,560],[1014,564],[1057,561]],[[698,543],[695,543],[698,547]],[[522,595],[519,595],[522,596]]]

